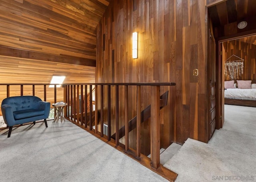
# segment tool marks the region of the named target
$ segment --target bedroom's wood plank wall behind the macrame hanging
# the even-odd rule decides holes
[[[256,45],[240,39],[223,42],[223,45],[226,59],[233,54],[244,59],[244,74],[238,80],[256,80]],[[225,80],[230,79],[225,77]]]

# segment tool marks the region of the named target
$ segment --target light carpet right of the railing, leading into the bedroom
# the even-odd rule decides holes
[[[188,139],[164,166],[176,182],[256,181],[255,118],[255,108],[225,106],[227,122],[208,144]]]

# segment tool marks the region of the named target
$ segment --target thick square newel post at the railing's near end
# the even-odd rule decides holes
[[[160,166],[160,86],[151,86],[151,166]]]

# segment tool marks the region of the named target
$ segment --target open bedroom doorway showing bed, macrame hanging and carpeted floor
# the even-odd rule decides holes
[[[252,135],[255,129],[252,115],[256,114],[256,35],[219,43],[225,88],[222,93],[225,104],[222,127]]]

